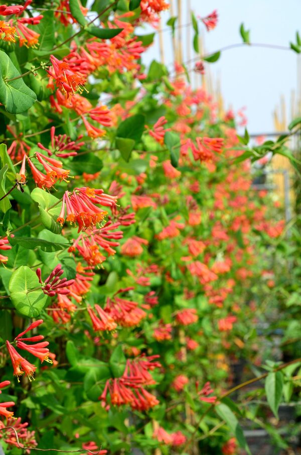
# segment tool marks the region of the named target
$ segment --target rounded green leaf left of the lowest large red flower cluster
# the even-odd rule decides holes
[[[104,389],[105,381],[111,377],[111,371],[106,363],[97,365],[88,371],[84,378],[84,391],[89,400],[98,401]]]

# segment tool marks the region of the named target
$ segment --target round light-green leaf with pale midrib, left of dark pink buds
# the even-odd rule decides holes
[[[37,317],[41,313],[47,295],[41,289],[36,273],[21,266],[13,273],[9,283],[10,297],[17,311],[24,316]]]

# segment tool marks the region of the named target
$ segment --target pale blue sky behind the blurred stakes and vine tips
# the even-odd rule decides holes
[[[182,5],[183,24],[190,23],[188,1],[182,0]],[[246,29],[250,29],[253,43],[289,46],[289,41],[295,41],[297,30],[301,35],[301,0],[191,0],[191,6],[196,16],[201,17],[215,9],[218,11],[219,22],[215,30],[206,32],[199,22],[208,53],[242,42],[239,35],[242,22]],[[169,13],[162,16],[164,28],[169,17]],[[182,30],[186,48],[187,31],[186,28]],[[148,29],[141,32],[149,33]],[[165,63],[172,63],[169,31],[164,33],[164,46]],[[257,134],[274,131],[272,112],[279,104],[280,95],[285,97],[289,122],[291,91],[298,91],[300,95],[301,90],[301,81],[297,81],[297,59],[301,63],[300,56],[292,51],[246,46],[225,51],[218,62],[207,65],[210,65],[213,77],[221,80],[226,106],[231,105],[235,111],[246,106],[248,131]],[[149,63],[154,58],[159,60],[158,37],[144,54],[143,61]]]

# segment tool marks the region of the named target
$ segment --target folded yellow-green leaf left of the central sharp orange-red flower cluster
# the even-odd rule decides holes
[[[60,200],[42,188],[35,188],[31,192],[31,197],[39,204],[39,211],[43,225],[49,231],[55,234],[60,234],[62,227],[57,222],[57,218],[61,211]],[[53,205],[55,206],[53,207]]]

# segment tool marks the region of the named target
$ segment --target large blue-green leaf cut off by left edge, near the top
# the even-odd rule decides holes
[[[10,57],[0,51],[0,102],[13,114],[25,112],[37,100],[35,92],[24,83],[22,77],[7,82],[18,76],[20,73]]]

